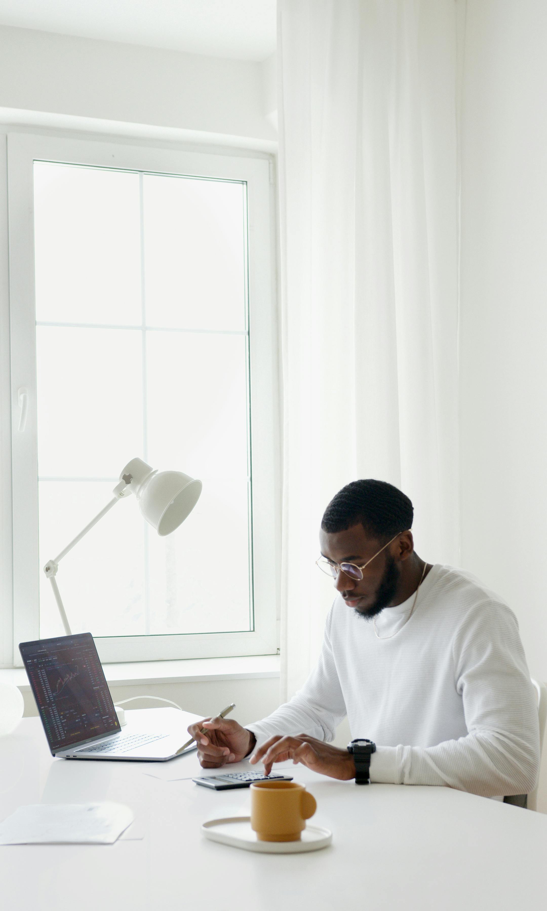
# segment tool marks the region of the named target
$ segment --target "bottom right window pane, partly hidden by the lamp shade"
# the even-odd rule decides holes
[[[150,533],[150,632],[250,630],[248,485],[206,479],[191,521]]]

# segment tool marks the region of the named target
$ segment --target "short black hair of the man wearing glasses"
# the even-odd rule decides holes
[[[351,481],[333,496],[321,527],[327,533],[346,531],[359,522],[373,537],[394,537],[412,527],[414,508],[406,494],[387,481]]]

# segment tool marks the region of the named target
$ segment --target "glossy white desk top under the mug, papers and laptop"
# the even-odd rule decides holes
[[[162,711],[162,710],[148,710]],[[168,772],[169,767],[169,772]],[[292,766],[314,793],[314,821],[333,844],[258,855],[201,836],[203,820],[246,814],[249,792],[211,792],[145,771],[195,775],[195,753],[171,763],[54,760],[37,718],[0,739],[0,820],[20,804],[115,800],[141,841],[112,846],[0,847],[5,911],[545,911],[547,816],[448,788],[357,787]],[[210,904],[209,904],[210,903]]]

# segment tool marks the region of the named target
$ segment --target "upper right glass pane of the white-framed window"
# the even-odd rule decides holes
[[[244,330],[243,184],[145,174],[147,322]]]

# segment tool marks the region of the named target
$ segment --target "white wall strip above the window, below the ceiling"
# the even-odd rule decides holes
[[[0,27],[0,107],[275,142],[272,63]]]

